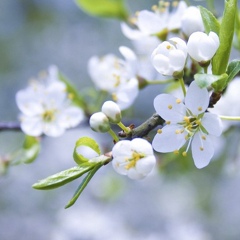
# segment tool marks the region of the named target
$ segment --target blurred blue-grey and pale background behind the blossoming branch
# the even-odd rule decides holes
[[[221,14],[224,1],[215,2]],[[132,12],[156,3],[127,1]],[[194,1],[199,3],[204,5]],[[90,17],[74,1],[1,0],[0,121],[17,121],[15,94],[40,71],[54,64],[82,90],[93,86],[87,72],[89,58],[119,55],[121,45],[131,47],[119,21]],[[143,90],[134,110],[137,118],[144,120],[153,113],[152,99],[158,92],[156,87]],[[34,163],[13,166],[0,176],[0,239],[239,240],[240,130],[236,127],[232,133],[226,141],[234,145],[224,161],[215,160],[202,170],[193,163],[187,169],[173,163],[145,180],[131,181],[106,166],[67,210],[64,206],[81,179],[52,191],[37,191],[31,185],[74,166],[71,155],[79,137],[93,137],[106,149],[110,138],[87,126],[56,139],[45,138]],[[22,140],[21,133],[1,132],[0,154],[15,150]]]

